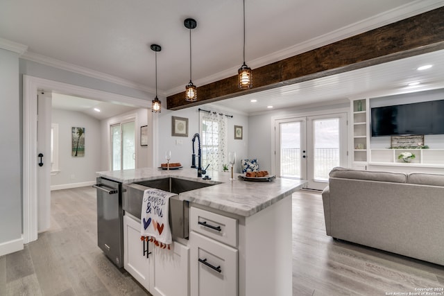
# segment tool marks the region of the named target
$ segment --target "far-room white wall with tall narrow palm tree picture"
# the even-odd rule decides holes
[[[95,182],[101,168],[100,121],[82,112],[52,110],[52,123],[58,123],[59,173],[51,176],[51,189]],[[71,155],[71,128],[85,128],[85,156]],[[71,186],[69,186],[71,184]]]

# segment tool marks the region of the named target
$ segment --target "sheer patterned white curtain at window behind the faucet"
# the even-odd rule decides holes
[[[227,164],[227,116],[219,112],[200,112],[202,166],[209,171],[223,171]]]

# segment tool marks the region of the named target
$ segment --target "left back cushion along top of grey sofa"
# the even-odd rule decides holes
[[[330,177],[339,177],[344,179],[407,183],[407,174],[405,173],[358,171],[351,168],[336,167],[330,171],[329,175]]]

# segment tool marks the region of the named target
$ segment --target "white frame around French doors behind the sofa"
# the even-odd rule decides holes
[[[300,118],[300,117],[311,117],[311,116],[328,116],[330,114],[338,114],[338,113],[345,113],[346,114],[346,120],[347,120],[347,128],[346,128],[346,132],[347,134],[345,135],[345,138],[347,139],[347,144],[345,146],[345,148],[347,149],[346,151],[346,157],[345,157],[345,161],[347,166],[349,166],[350,164],[350,157],[348,153],[349,147],[350,147],[350,126],[348,125],[348,122],[350,121],[350,107],[339,107],[339,108],[332,108],[332,109],[328,109],[328,110],[319,110],[319,111],[313,111],[313,112],[301,112],[301,113],[293,113],[293,114],[284,114],[284,115],[277,115],[277,116],[271,116],[271,124],[270,124],[270,128],[271,128],[271,137],[270,137],[270,145],[271,145],[271,155],[270,155],[270,159],[271,159],[271,171],[273,172],[273,175],[279,175],[278,171],[277,171],[277,153],[276,153],[276,132],[279,132],[278,130],[275,129],[275,125],[278,121],[284,121],[287,119],[292,119],[292,118]],[[308,139],[307,139],[308,140]]]

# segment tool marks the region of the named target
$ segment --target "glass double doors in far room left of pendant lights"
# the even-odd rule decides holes
[[[110,126],[111,171],[135,168],[135,121],[116,123]]]

